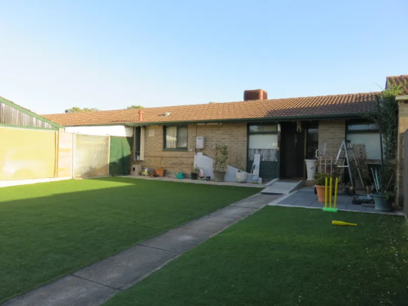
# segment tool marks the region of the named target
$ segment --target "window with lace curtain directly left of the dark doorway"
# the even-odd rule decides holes
[[[250,125],[248,139],[248,160],[260,154],[261,161],[277,160],[277,125]]]

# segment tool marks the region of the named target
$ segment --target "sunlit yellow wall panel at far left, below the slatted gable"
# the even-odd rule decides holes
[[[0,127],[0,180],[54,177],[56,131]]]

